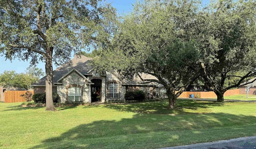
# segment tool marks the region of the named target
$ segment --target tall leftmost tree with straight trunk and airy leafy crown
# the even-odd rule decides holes
[[[55,110],[52,62],[63,64],[72,52],[109,42],[115,9],[100,1],[0,1],[0,52],[10,60],[45,62],[46,110]]]

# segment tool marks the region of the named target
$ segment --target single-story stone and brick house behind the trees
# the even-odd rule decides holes
[[[89,61],[92,58],[75,56],[70,63],[57,68],[53,72],[53,93],[58,93],[61,102],[83,101],[92,103],[110,100],[125,100],[126,91],[140,89],[145,92],[147,98],[157,93],[157,83],[141,83],[138,78],[132,81],[122,79],[116,72],[98,74],[92,69]],[[152,79],[154,76],[143,74],[144,79]],[[34,93],[45,92],[46,77],[33,83]],[[159,90],[159,89],[158,89]]]

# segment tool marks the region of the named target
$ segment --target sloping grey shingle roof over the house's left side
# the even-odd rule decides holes
[[[89,60],[92,60],[92,58],[88,58],[86,56],[75,56],[72,60],[70,60],[70,63],[64,64],[60,68],[57,68],[53,71],[53,83],[57,83],[57,81],[66,75],[68,72],[70,72],[73,69],[76,69],[81,74],[87,74],[91,69],[92,66],[90,66]],[[36,85],[45,85],[46,77],[42,77],[40,80],[33,83],[33,86]]]

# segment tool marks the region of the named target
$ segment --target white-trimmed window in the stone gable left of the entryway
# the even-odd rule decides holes
[[[68,101],[82,101],[80,87],[69,87],[68,88]]]

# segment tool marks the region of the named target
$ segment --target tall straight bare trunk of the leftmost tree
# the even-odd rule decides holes
[[[52,51],[53,48],[46,46],[46,55],[45,55],[45,93],[46,93],[46,111],[56,111],[53,105],[52,99],[52,78],[53,78],[53,69],[52,69]]]

